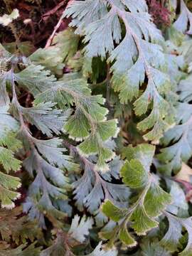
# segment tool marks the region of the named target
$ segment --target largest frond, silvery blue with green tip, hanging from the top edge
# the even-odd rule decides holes
[[[82,11],[85,5],[86,11]],[[158,45],[163,42],[163,37],[151,22],[146,3],[73,1],[63,16],[72,16],[70,26],[77,27],[75,33],[85,36],[85,58],[100,56],[104,59],[109,55],[107,62],[112,63],[112,87],[119,92],[120,102],[126,104],[136,98],[134,110],[139,116],[150,110],[149,116],[138,124],[139,129],[147,131],[144,139],[162,137],[173,123],[167,116],[170,105],[165,100],[171,84],[165,73],[163,48]],[[146,89],[140,95],[139,87],[146,77]]]

